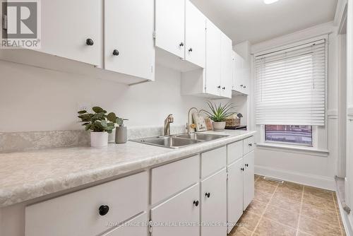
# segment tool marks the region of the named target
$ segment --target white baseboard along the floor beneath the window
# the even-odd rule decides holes
[[[268,177],[274,177],[289,182],[298,184],[304,184],[311,187],[317,187],[321,189],[328,189],[335,191],[335,179],[334,177],[326,177],[321,175],[309,175],[301,172],[291,172],[288,170],[272,169],[269,167],[263,167],[255,165],[256,175],[265,175]]]

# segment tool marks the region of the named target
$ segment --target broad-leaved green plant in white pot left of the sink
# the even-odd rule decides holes
[[[116,115],[114,112],[107,114],[102,107],[92,107],[93,112],[88,113],[86,110],[78,112],[78,118],[85,126],[85,130],[90,130],[90,146],[104,147],[108,145],[108,134],[111,134],[115,128]]]

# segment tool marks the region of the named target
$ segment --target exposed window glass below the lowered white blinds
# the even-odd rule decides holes
[[[311,125],[265,125],[265,141],[313,146]]]

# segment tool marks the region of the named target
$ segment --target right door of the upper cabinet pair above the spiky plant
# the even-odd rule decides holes
[[[232,40],[221,33],[221,96],[232,98]]]

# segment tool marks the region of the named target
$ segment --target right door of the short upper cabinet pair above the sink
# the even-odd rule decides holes
[[[186,0],[185,59],[205,68],[206,18],[201,11]]]

